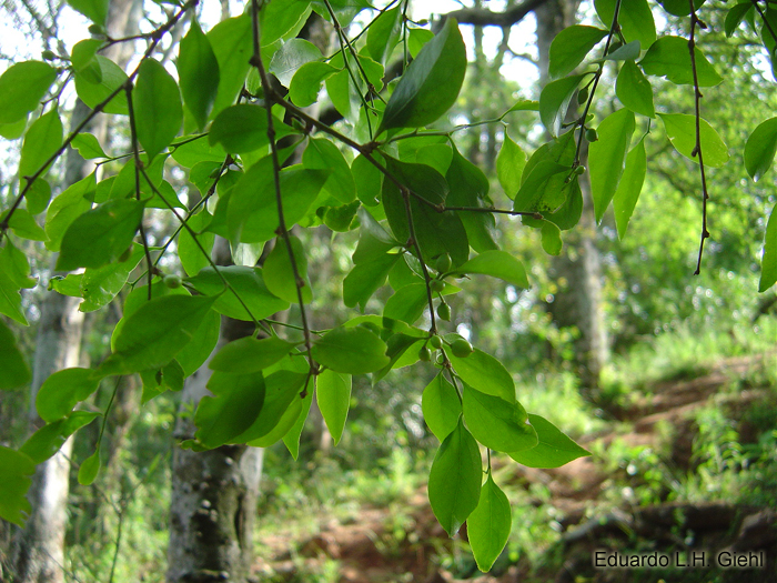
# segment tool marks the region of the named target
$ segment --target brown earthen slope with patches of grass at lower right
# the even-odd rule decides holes
[[[421,489],[403,502],[398,535],[393,515],[396,507],[364,506],[350,520],[322,519],[315,532],[300,534],[280,529],[263,536],[262,559],[254,566],[256,577],[290,583],[445,583],[465,579],[474,583],[575,583],[662,581],[667,575],[674,581],[679,575],[682,581],[777,581],[774,507],[741,504],[714,494],[705,500],[698,493],[684,497],[668,492],[646,503],[635,496],[638,489],[628,485],[629,480],[645,483],[644,464],[614,468],[612,461],[607,464],[596,455],[610,446],[657,452],[655,460],[675,475],[693,475],[699,463],[693,454],[699,432],[698,412],[710,404],[734,420],[741,443],[757,441],[758,431],[748,412],[760,402],[777,399],[777,388],[760,381],[768,376],[763,372],[769,368],[777,370],[777,352],[727,359],[702,373],[645,386],[627,405],[608,409],[610,420],[604,431],[577,440],[594,455],[553,470],[516,465],[501,469],[502,480],[524,489],[529,497],[532,484],[542,484],[549,499],[531,503],[555,509],[552,514],[556,540],[538,543],[543,547],[535,549],[532,557],[526,553],[504,553],[491,574],[480,573],[466,545],[450,540],[437,524],[425,489]],[[457,536],[466,540],[466,530]],[[595,570],[592,557],[597,549],[622,553],[657,551],[672,556],[677,550],[705,550],[707,561],[723,549],[766,550],[767,565],[763,570],[725,572],[707,567],[697,572],[697,579],[688,570],[643,570],[642,579],[633,579],[630,572],[623,570]],[[443,556],[464,559],[444,561]]]

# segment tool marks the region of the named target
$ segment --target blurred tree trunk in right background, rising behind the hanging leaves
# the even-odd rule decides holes
[[[575,23],[578,3],[578,0],[551,0],[535,10],[541,84],[548,80],[551,42],[561,30]],[[558,282],[558,292],[548,310],[558,326],[575,326],[578,330],[579,335],[575,340],[577,374],[584,392],[592,393],[599,385],[608,351],[602,310],[602,261],[596,245],[588,173],[579,178],[579,184],[583,215],[574,231],[565,233],[564,250],[553,260],[552,274]]]

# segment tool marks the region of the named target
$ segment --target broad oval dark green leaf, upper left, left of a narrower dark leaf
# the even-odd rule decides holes
[[[152,160],[170,145],[183,123],[178,83],[159,61],[145,59],[140,64],[132,105],[138,141]]]

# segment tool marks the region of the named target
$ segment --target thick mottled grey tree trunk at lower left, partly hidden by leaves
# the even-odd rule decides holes
[[[219,238],[216,263],[229,262],[229,245]],[[253,324],[222,318],[216,350],[253,332]],[[210,359],[209,359],[210,360]],[[190,439],[196,428],[188,413],[208,394],[208,361],[183,388],[175,438]],[[244,583],[253,557],[252,534],[264,450],[224,445],[206,452],[175,448],[170,506],[170,583]]]

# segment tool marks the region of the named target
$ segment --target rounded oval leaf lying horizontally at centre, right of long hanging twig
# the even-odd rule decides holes
[[[335,328],[313,345],[313,358],[335,372],[364,374],[389,364],[386,344],[365,328]]]

